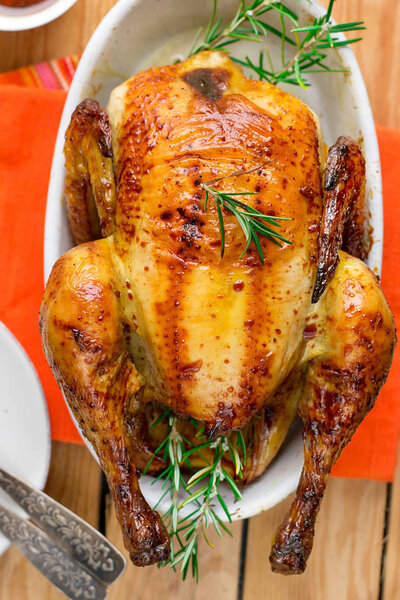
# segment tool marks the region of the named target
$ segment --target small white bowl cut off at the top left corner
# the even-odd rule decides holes
[[[0,31],[24,31],[54,21],[77,0],[42,0],[24,8],[0,4]]]

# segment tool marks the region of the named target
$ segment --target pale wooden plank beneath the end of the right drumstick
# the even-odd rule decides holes
[[[332,479],[303,575],[277,575],[268,563],[289,500],[251,519],[243,600],[377,600],[385,500],[385,483]]]

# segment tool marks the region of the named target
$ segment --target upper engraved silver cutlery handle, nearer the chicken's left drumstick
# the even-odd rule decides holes
[[[0,487],[97,579],[109,585],[121,575],[126,566],[125,557],[94,527],[1,468]]]

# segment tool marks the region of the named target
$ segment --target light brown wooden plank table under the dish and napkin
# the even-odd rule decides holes
[[[168,0],[162,0],[167,2]],[[57,21],[33,31],[0,33],[0,71],[82,52],[115,0],[79,0]],[[323,2],[327,4],[327,1]],[[368,30],[354,49],[364,74],[376,122],[400,127],[400,1],[338,0],[339,21],[364,19]],[[122,540],[100,471],[84,447],[53,443],[46,491]],[[129,566],[111,588],[114,600],[400,600],[400,469],[394,485],[332,479],[318,518],[307,572],[271,573],[267,557],[273,532],[289,499],[247,522],[235,523],[233,539],[202,548],[201,581],[167,569]],[[204,551],[203,551],[204,550]],[[57,600],[53,588],[11,548],[0,558],[0,600]]]

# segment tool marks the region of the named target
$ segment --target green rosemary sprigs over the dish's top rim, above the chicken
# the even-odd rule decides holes
[[[202,50],[220,50],[230,52],[230,46],[240,40],[266,42],[269,35],[281,40],[281,65],[275,68],[268,47],[259,52],[258,61],[252,61],[248,56],[244,59],[232,57],[232,60],[251,69],[260,80],[279,85],[289,83],[306,88],[310,85],[306,78],[311,73],[345,73],[346,69],[331,69],[327,63],[327,51],[331,48],[347,46],[360,41],[356,37],[342,40],[338,33],[352,33],[365,29],[363,21],[353,21],[334,24],[331,18],[335,0],[330,0],[328,10],[322,17],[314,19],[306,27],[299,26],[298,16],[284,3],[274,0],[252,0],[247,4],[241,0],[240,6],[232,21],[222,25],[222,19],[217,19],[218,0],[214,0],[213,12],[204,39],[199,43],[203,30],[199,30],[189,56]],[[269,12],[279,14],[281,29],[273,27],[263,19]],[[288,30],[288,26],[290,29]],[[295,53],[286,60],[285,46],[295,48]],[[268,68],[264,65],[264,56],[268,59]]]

